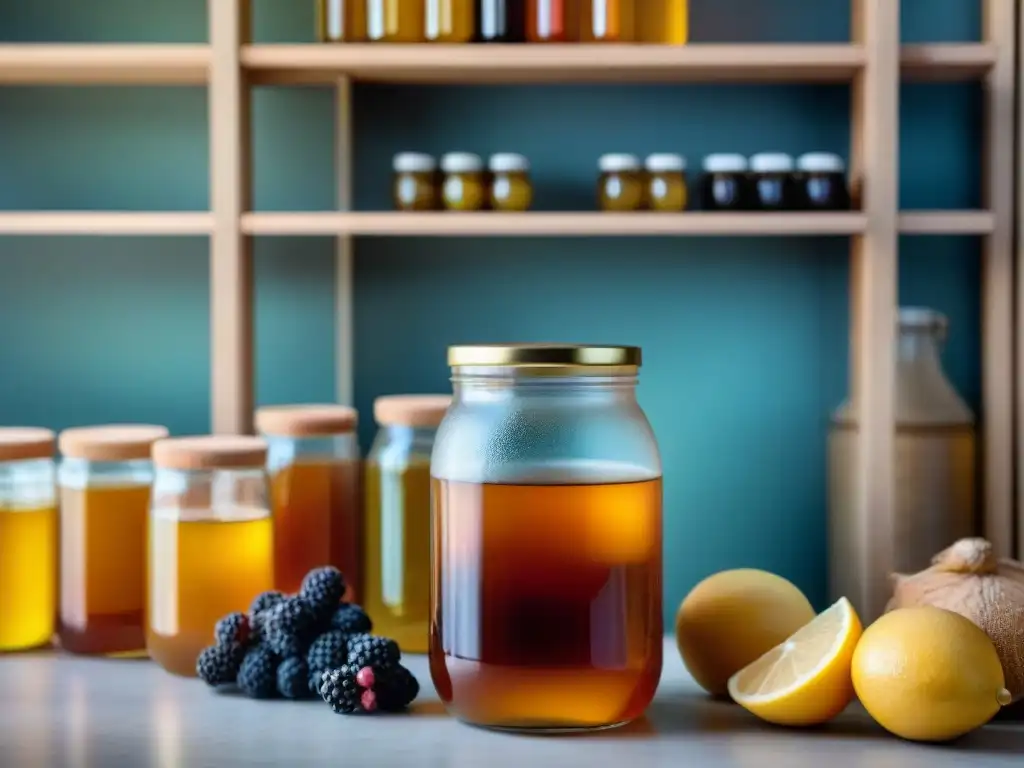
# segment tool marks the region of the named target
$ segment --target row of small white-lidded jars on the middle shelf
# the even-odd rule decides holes
[[[597,203],[602,211],[680,212],[692,207],[686,158],[659,153],[598,160]],[[430,155],[399,153],[392,162],[394,206],[399,211],[525,211],[534,201],[529,161],[499,153],[486,163],[454,152],[440,164]],[[439,169],[439,171],[438,171]],[[699,207],[706,211],[842,211],[850,208],[843,159],[807,153],[709,155],[701,164]]]

